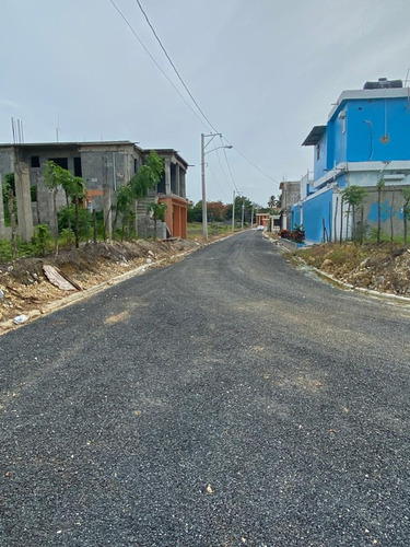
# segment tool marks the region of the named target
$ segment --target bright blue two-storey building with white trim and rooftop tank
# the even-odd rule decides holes
[[[410,186],[410,89],[400,80],[366,82],[363,90],[343,91],[328,121],[315,126],[303,142],[314,147],[313,181],[305,182],[294,218],[303,223],[306,241],[335,241],[341,230],[350,236],[352,219],[340,190],[366,189],[363,230],[377,224],[377,188],[384,181],[383,225],[402,230],[402,187]],[[302,181],[303,183],[303,181]],[[302,184],[303,186],[303,184]]]

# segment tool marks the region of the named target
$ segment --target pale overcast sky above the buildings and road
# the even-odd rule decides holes
[[[206,118],[138,0],[1,0],[1,143],[13,117],[25,142],[56,142],[58,128],[60,142],[174,149],[197,202],[201,133],[218,132],[207,200],[235,190],[266,207],[313,168],[301,144],[343,90],[408,78],[409,0],[139,2]]]

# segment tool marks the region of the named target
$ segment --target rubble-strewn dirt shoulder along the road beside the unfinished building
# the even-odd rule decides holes
[[[25,323],[145,268],[179,260],[202,245],[201,240],[87,243],[58,256],[0,264],[0,334],[15,328],[13,319],[19,316]],[[73,287],[56,287],[47,278],[47,269]]]

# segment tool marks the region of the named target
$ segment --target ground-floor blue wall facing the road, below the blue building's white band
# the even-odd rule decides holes
[[[330,218],[329,218],[330,217]],[[306,240],[320,243],[324,238],[323,219],[330,236],[330,225],[333,217],[332,189],[324,191],[319,196],[314,196],[303,203],[303,228]]]

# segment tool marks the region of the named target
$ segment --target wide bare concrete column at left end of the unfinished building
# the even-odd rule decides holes
[[[33,237],[32,195],[30,191],[28,165],[23,162],[14,163],[15,197],[17,200],[19,235],[23,242]]]

